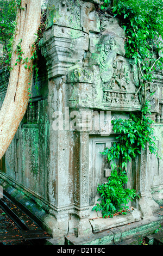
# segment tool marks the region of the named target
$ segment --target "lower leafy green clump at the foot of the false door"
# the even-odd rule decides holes
[[[102,197],[98,200],[101,200],[101,204],[96,204],[92,210],[102,211],[103,218],[113,217],[116,212],[126,214],[125,210],[128,208],[126,204],[136,197],[135,190],[124,188],[124,184],[128,182],[128,177],[121,168],[119,170],[120,174],[117,173],[116,169],[111,172],[106,184],[98,184],[97,191]]]

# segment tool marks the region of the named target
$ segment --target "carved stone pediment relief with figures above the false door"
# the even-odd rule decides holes
[[[137,70],[133,63],[129,63],[123,57],[122,38],[108,35],[102,36],[101,40],[101,44],[97,46],[97,51],[100,48],[100,57],[98,58],[96,54],[92,55],[99,65],[104,107],[120,110],[121,107],[126,107],[126,110],[130,107],[139,109],[139,99],[134,98],[138,84]]]

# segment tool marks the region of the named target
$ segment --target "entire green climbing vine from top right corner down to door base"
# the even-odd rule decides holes
[[[140,85],[135,96],[140,92],[143,95],[141,112],[130,113],[129,119],[111,121],[113,131],[117,134],[116,141],[102,153],[111,162],[112,173],[106,184],[98,184],[101,204],[96,204],[92,210],[101,210],[103,217],[112,217],[117,211],[123,213],[129,200],[136,197],[136,191],[124,189],[124,184],[128,181],[128,161],[141,154],[141,150],[145,150],[147,145],[149,151],[157,155],[152,127],[154,121],[150,118],[150,104],[146,94],[149,84],[155,80],[155,71],[161,70],[163,64],[163,2],[105,0],[101,10],[117,17],[126,32],[125,57],[134,59],[140,73]],[[119,160],[120,167],[116,166],[115,160]]]

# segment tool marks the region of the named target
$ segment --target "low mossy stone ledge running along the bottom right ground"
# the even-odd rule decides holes
[[[85,237],[65,237],[65,245],[139,245],[143,237],[151,235],[163,225],[163,211],[150,218],[110,228]],[[162,227],[161,227],[162,230]]]

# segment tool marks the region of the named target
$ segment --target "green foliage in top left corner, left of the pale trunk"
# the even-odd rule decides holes
[[[0,58],[0,66],[2,68],[10,64],[16,12],[15,0],[0,1],[0,43],[3,45],[3,57]]]

